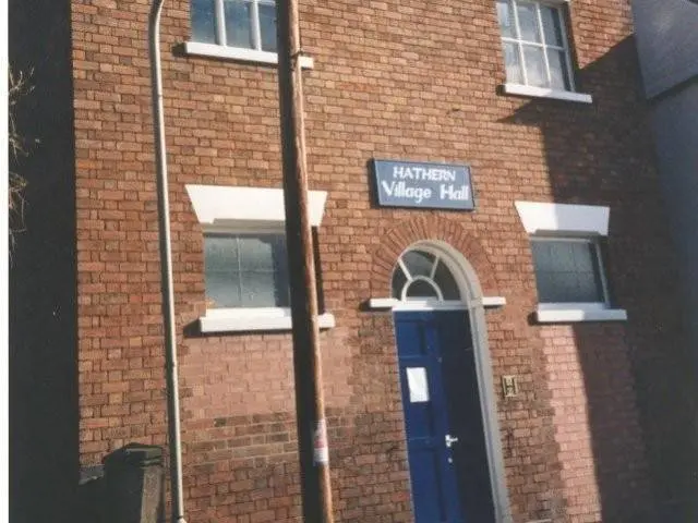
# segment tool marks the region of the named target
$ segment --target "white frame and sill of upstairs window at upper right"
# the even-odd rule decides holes
[[[521,95],[521,96],[533,96],[533,97],[542,97],[542,98],[555,98],[567,101],[579,101],[591,104],[592,98],[590,95],[578,93],[575,86],[575,75],[571,63],[571,52],[569,49],[569,37],[567,35],[567,26],[564,14],[564,4],[567,3],[565,0],[559,1],[546,1],[546,0],[505,0],[510,9],[510,14],[514,20],[514,31],[516,33],[516,37],[512,38],[509,36],[500,35],[502,42],[513,44],[516,46],[519,56],[519,64],[521,69],[521,77],[524,80],[522,84],[510,83],[507,82],[504,84],[504,92],[510,95]],[[539,36],[541,41],[529,41],[524,40],[521,38],[521,29],[519,26],[519,15],[517,12],[517,4],[527,3],[533,4],[535,7],[537,14],[537,25],[539,31]],[[543,20],[541,16],[541,5],[546,5],[555,10],[557,14],[557,21],[561,27],[561,37],[563,40],[562,46],[557,46],[554,44],[549,44],[545,41],[545,32],[543,31]],[[549,87],[537,87],[530,85],[528,83],[528,71],[526,69],[526,58],[524,54],[524,45],[539,47],[543,50],[543,61],[545,63],[545,72],[547,75],[547,82],[551,83],[551,71],[550,71],[550,59],[547,57],[547,50],[553,49],[556,51],[562,51],[565,57],[565,69],[567,71],[567,78],[569,81],[568,89],[553,89]],[[503,51],[504,52],[504,51]]]

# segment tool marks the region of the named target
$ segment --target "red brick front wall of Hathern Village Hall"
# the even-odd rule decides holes
[[[65,313],[74,325],[63,328],[74,329],[79,425],[64,438],[75,436],[87,467],[130,441],[167,443],[149,3],[68,3],[51,9],[70,16],[52,50],[70,51],[53,62],[56,77],[70,78],[56,99],[70,115],[47,118],[44,129],[60,124],[70,137],[61,150],[74,209],[63,231],[74,241],[67,256],[76,294]],[[163,19],[186,520],[291,521],[300,485],[287,319],[257,329],[254,311],[250,319],[212,313],[205,256],[207,238],[221,231],[242,248],[244,234],[282,230],[264,218],[279,202],[276,71],[260,63],[272,53],[258,37],[257,54],[217,45],[220,29],[206,40],[205,26],[195,41],[191,5],[202,3],[170,0]],[[677,283],[629,7],[553,3],[566,26],[550,26],[566,42],[558,52],[544,41],[545,5],[301,2],[312,59],[303,78],[310,185],[326,198],[315,238],[337,521],[411,522],[419,511],[395,333],[409,303],[393,291],[398,259],[416,246],[450,256],[454,278],[471,285],[458,300],[479,365],[478,423],[498,521],[665,521],[659,514],[687,495]],[[563,57],[557,88],[507,78],[503,41],[521,51],[513,60],[528,57],[528,8],[539,16],[528,29],[544,28],[547,82],[553,57]],[[503,40],[507,31],[516,33]],[[474,210],[380,205],[376,158],[470,166]],[[219,196],[197,200],[201,186]],[[239,187],[268,190],[249,193],[255,218],[240,199],[218,202],[243,197]],[[601,215],[607,231],[590,224]],[[601,297],[590,300],[600,309],[539,306],[539,232],[587,239],[601,253],[592,256]],[[504,377],[516,381],[513,397],[502,393]]]

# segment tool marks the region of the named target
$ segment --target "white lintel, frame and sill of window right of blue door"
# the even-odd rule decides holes
[[[627,312],[613,308],[603,265],[600,238],[609,234],[610,209],[595,205],[516,202],[516,210],[530,240],[578,241],[595,244],[603,301],[582,303],[539,303],[535,316],[539,323],[624,321]],[[534,263],[534,260],[533,260]]]

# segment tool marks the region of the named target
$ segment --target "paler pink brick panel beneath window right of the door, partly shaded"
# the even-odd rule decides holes
[[[555,440],[570,521],[651,515],[645,445],[624,329],[543,329]]]

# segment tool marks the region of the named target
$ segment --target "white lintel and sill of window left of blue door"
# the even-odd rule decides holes
[[[280,188],[186,185],[196,218],[206,233],[284,233],[284,191]],[[320,227],[327,193],[309,191],[311,227]],[[318,315],[321,329],[335,327],[330,313]],[[204,333],[291,330],[288,307],[207,308],[198,318]]]

